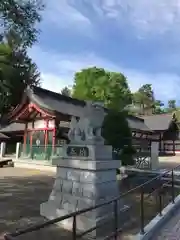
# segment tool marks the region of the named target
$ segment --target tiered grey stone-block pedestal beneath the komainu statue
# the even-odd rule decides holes
[[[53,165],[57,166],[56,180],[48,201],[40,206],[41,215],[48,219],[95,206],[120,194],[116,180],[120,160],[112,160],[111,146],[67,145],[63,148],[63,157],[53,159]],[[123,209],[120,201],[118,204],[118,209]],[[110,204],[79,215],[77,231],[86,231],[107,219],[112,220],[113,210]],[[72,219],[62,224],[72,230]],[[95,238],[97,234],[96,231]]]

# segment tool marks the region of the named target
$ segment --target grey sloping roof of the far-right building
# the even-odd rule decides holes
[[[142,118],[151,130],[167,130],[172,121],[172,114],[143,116]]]

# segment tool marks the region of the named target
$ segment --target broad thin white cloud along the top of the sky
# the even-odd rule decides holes
[[[179,35],[180,0],[46,0],[44,23],[93,37],[111,22],[139,38]],[[99,25],[100,24],[100,25]],[[151,35],[150,35],[151,34]]]

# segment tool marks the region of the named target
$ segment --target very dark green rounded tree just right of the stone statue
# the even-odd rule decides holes
[[[111,110],[104,119],[102,135],[106,143],[113,146],[116,151],[115,158],[119,158],[123,165],[133,165],[132,133],[127,121],[126,111]],[[119,124],[114,124],[115,122]]]

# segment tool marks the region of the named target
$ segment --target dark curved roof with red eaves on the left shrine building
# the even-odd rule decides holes
[[[27,88],[22,102],[8,115],[8,119],[18,121],[19,114],[22,115],[23,111],[28,115],[27,105],[30,103],[39,109],[39,112],[43,112],[44,116],[49,117],[55,117],[58,114],[79,117],[86,104],[85,101],[63,96],[40,87]]]

